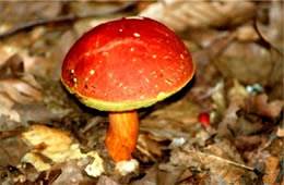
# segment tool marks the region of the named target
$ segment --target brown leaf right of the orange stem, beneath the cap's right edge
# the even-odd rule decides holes
[[[141,121],[140,130],[161,139],[187,138],[189,132],[194,132],[191,126],[198,123],[199,107],[189,100],[180,99],[176,102],[164,101],[150,115]]]

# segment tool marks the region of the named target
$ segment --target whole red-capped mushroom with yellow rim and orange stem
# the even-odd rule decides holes
[[[135,149],[137,110],[179,91],[193,73],[189,51],[170,29],[126,17],[84,34],[64,58],[61,81],[85,106],[109,112],[105,145],[119,162]]]

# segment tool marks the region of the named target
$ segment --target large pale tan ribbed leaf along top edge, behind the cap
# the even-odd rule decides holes
[[[175,32],[187,27],[232,27],[256,15],[253,2],[196,2],[168,0],[150,4],[140,15],[149,16],[169,26]]]

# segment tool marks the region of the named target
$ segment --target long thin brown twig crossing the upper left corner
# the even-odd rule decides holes
[[[81,13],[81,14],[69,14],[69,15],[63,15],[63,16],[58,16],[58,17],[50,17],[50,18],[46,18],[46,20],[36,20],[36,21],[32,21],[28,22],[24,25],[19,25],[15,26],[13,28],[11,28],[10,30],[0,34],[0,39],[14,35],[21,30],[25,30],[25,29],[29,29],[33,28],[35,26],[40,26],[40,25],[46,25],[46,24],[58,24],[61,22],[73,22],[75,20],[79,18],[87,18],[87,17],[93,17],[93,16],[99,16],[99,15],[106,15],[106,14],[110,14],[110,13],[116,13],[116,12],[120,12],[122,10],[126,10],[132,5],[134,5],[137,3],[137,0],[130,1],[130,2],[126,2],[120,7],[116,7],[116,8],[111,8],[111,9],[105,9],[105,10],[98,10],[96,12],[88,12],[88,13]]]

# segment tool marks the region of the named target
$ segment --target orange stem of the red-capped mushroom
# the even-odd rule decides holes
[[[137,111],[109,112],[106,147],[116,162],[131,159],[135,150],[139,121]]]

